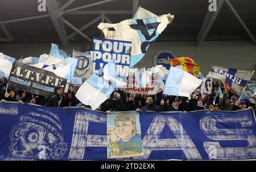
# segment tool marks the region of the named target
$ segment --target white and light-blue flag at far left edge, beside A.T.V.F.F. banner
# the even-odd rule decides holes
[[[13,62],[15,58],[6,56],[3,53],[0,53],[0,73],[5,73],[5,77],[8,77],[13,67]]]

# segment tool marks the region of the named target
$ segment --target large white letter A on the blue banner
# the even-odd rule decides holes
[[[159,139],[164,125],[172,130],[177,139]],[[144,156],[134,157],[134,160],[146,160],[152,150],[183,150],[188,160],[201,160],[195,144],[185,132],[182,125],[171,116],[155,116],[146,135],[142,140]]]

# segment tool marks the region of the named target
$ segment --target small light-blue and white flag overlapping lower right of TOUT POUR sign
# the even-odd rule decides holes
[[[110,60],[110,62],[108,62],[108,64],[105,65],[103,71],[104,79],[106,81],[111,81],[115,88],[123,88],[126,86],[126,83],[122,81],[123,79],[118,77],[117,65],[115,65],[114,59]]]

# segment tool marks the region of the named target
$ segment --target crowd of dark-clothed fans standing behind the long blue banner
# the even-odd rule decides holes
[[[221,87],[223,96],[217,96],[213,103],[214,97],[217,93],[218,86]],[[19,102],[31,103],[41,106],[53,107],[82,107],[90,108],[76,99],[75,94],[79,86],[69,85],[67,93],[63,93],[61,87],[56,87],[54,93],[47,95],[36,95],[27,91],[15,90],[7,87],[7,78],[0,79],[0,102]],[[86,96],[86,95],[85,95]],[[170,95],[163,95],[162,89],[158,89],[155,95],[139,95],[127,94],[122,89],[114,91],[110,97],[101,104],[97,110],[104,112],[114,111],[237,111],[245,108],[252,108],[256,112],[256,97],[249,99],[239,99],[240,97],[233,94],[232,91],[227,90],[221,82],[213,83],[212,93],[201,95],[199,91],[194,91],[191,98],[176,97]]]

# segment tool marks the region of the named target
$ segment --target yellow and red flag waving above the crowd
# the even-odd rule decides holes
[[[182,66],[183,71],[188,72],[194,75],[195,77],[197,77],[200,72],[200,66],[195,64],[195,61],[193,61],[189,57],[172,58],[170,59],[170,65]]]

